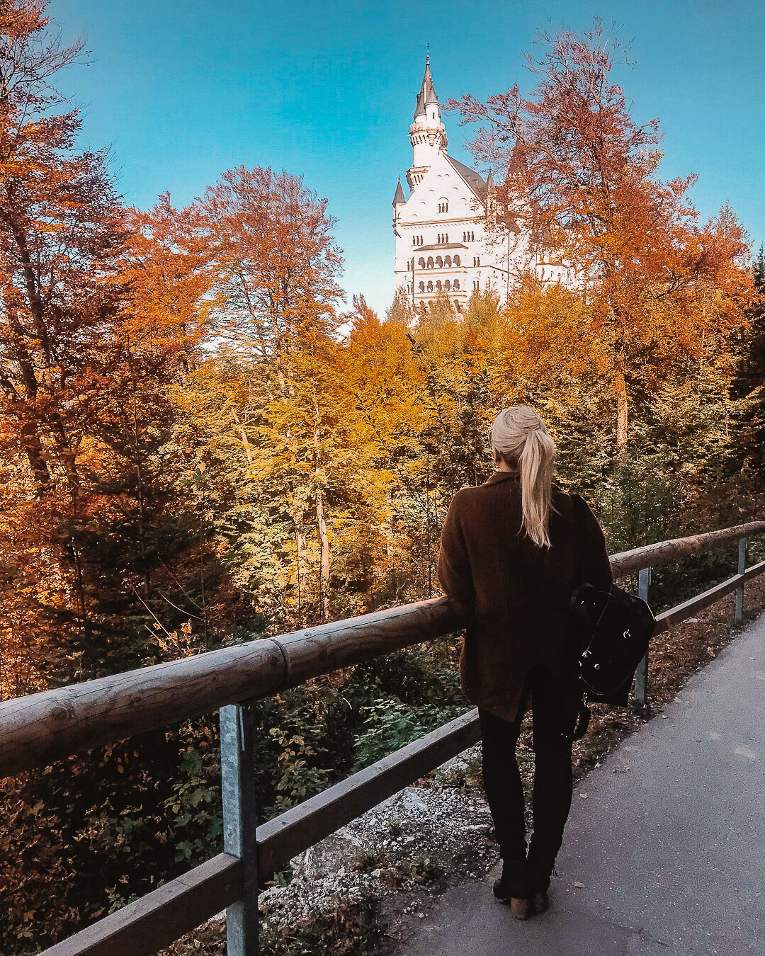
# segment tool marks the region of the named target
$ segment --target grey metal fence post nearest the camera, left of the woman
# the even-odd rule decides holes
[[[226,910],[229,956],[257,956],[257,818],[252,754],[252,707],[221,707],[223,848],[243,866],[242,898]]]

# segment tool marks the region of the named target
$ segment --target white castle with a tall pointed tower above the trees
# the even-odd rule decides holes
[[[429,54],[409,141],[414,153],[406,172],[409,198],[401,177],[393,197],[394,269],[397,290],[404,290],[415,309],[446,293],[462,312],[474,291],[488,289],[503,302],[522,271],[536,272],[545,283],[571,281],[565,265],[541,253],[513,221],[509,228],[497,223],[492,173],[484,179],[448,155]]]

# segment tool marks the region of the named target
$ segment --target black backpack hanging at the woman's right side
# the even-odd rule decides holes
[[[656,627],[653,612],[640,597],[612,584],[600,591],[582,584],[571,596],[579,623],[581,705],[573,739],[583,737],[589,723],[587,701],[625,705],[635,670]]]

